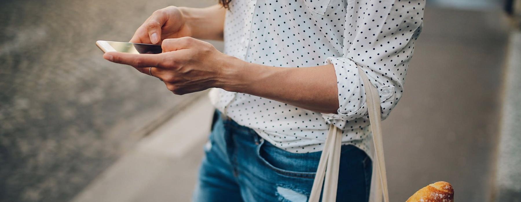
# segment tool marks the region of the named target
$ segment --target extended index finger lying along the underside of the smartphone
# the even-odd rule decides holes
[[[103,55],[105,60],[119,64],[128,64],[134,68],[161,68],[164,60],[160,54],[136,54],[127,52],[106,52]]]

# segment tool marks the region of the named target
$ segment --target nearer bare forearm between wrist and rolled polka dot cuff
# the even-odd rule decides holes
[[[237,62],[226,73],[225,90],[277,100],[303,109],[337,113],[337,77],[332,64],[309,68],[276,68]]]

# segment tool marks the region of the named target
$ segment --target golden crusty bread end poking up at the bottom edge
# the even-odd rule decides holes
[[[448,182],[436,182],[421,188],[406,202],[453,202],[454,190]]]

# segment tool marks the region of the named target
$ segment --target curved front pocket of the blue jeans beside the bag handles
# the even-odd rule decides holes
[[[315,153],[315,152],[314,152]],[[257,145],[257,158],[266,167],[287,177],[314,179],[320,152],[291,153],[261,139]],[[318,158],[315,160],[315,156]],[[301,158],[302,157],[302,158]],[[311,157],[311,158],[310,158]]]

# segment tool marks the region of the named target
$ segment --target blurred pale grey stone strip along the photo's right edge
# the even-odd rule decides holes
[[[508,50],[495,199],[521,202],[521,30],[511,35]]]

